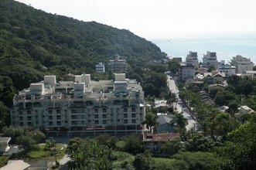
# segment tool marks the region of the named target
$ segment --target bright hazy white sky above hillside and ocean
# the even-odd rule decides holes
[[[256,0],[17,0],[145,39],[256,32]]]

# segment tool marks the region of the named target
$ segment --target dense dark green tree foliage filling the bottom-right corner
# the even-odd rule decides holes
[[[255,169],[256,167],[256,124],[241,125],[230,132],[223,147],[217,149],[214,169]]]

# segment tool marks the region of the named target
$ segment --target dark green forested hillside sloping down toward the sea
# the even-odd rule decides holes
[[[165,56],[155,44],[128,30],[0,1],[0,100],[46,74],[60,80],[67,73],[94,73],[96,63],[107,63],[116,53],[128,60]]]

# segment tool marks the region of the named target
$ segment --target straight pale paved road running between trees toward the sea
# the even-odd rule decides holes
[[[186,125],[186,130],[189,130],[190,128],[196,128],[195,124],[196,121],[193,120],[193,117],[190,116],[189,114],[189,110],[186,109],[185,105],[183,104],[183,101],[179,98],[179,90],[178,87],[176,87],[176,83],[174,80],[170,80],[169,78],[170,76],[168,76],[168,87],[169,90],[172,91],[172,93],[176,93],[176,97],[179,99],[178,103],[176,104],[176,109],[177,111],[180,113],[183,113],[183,116],[186,117],[188,119],[188,125]]]

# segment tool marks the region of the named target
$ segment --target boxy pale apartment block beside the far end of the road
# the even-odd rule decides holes
[[[195,66],[188,63],[179,63],[179,79],[186,80],[195,76]]]

